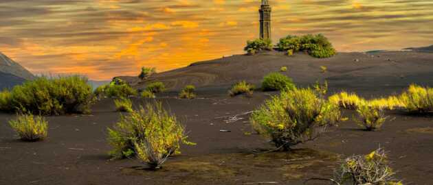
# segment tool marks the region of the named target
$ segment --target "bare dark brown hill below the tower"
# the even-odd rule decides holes
[[[433,85],[432,64],[433,53],[416,51],[338,53],[324,59],[304,53],[285,56],[278,51],[269,51],[254,56],[236,55],[196,62],[181,69],[157,73],[145,81],[138,77],[120,78],[137,89],[144,89],[148,82],[159,81],[172,91],[192,84],[215,93],[225,92],[241,80],[260,86],[264,75],[287,66],[288,70],[282,73],[293,78],[298,86],[309,86],[326,79],[331,90],[369,90],[368,94],[377,95],[395,93],[415,82]],[[322,73],[320,66],[326,66],[326,73]]]

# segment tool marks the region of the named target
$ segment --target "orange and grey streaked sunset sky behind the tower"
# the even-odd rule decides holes
[[[269,0],[273,40],[327,36],[337,51],[433,45],[431,0]],[[32,73],[138,75],[243,53],[260,0],[1,0],[0,52]]]

